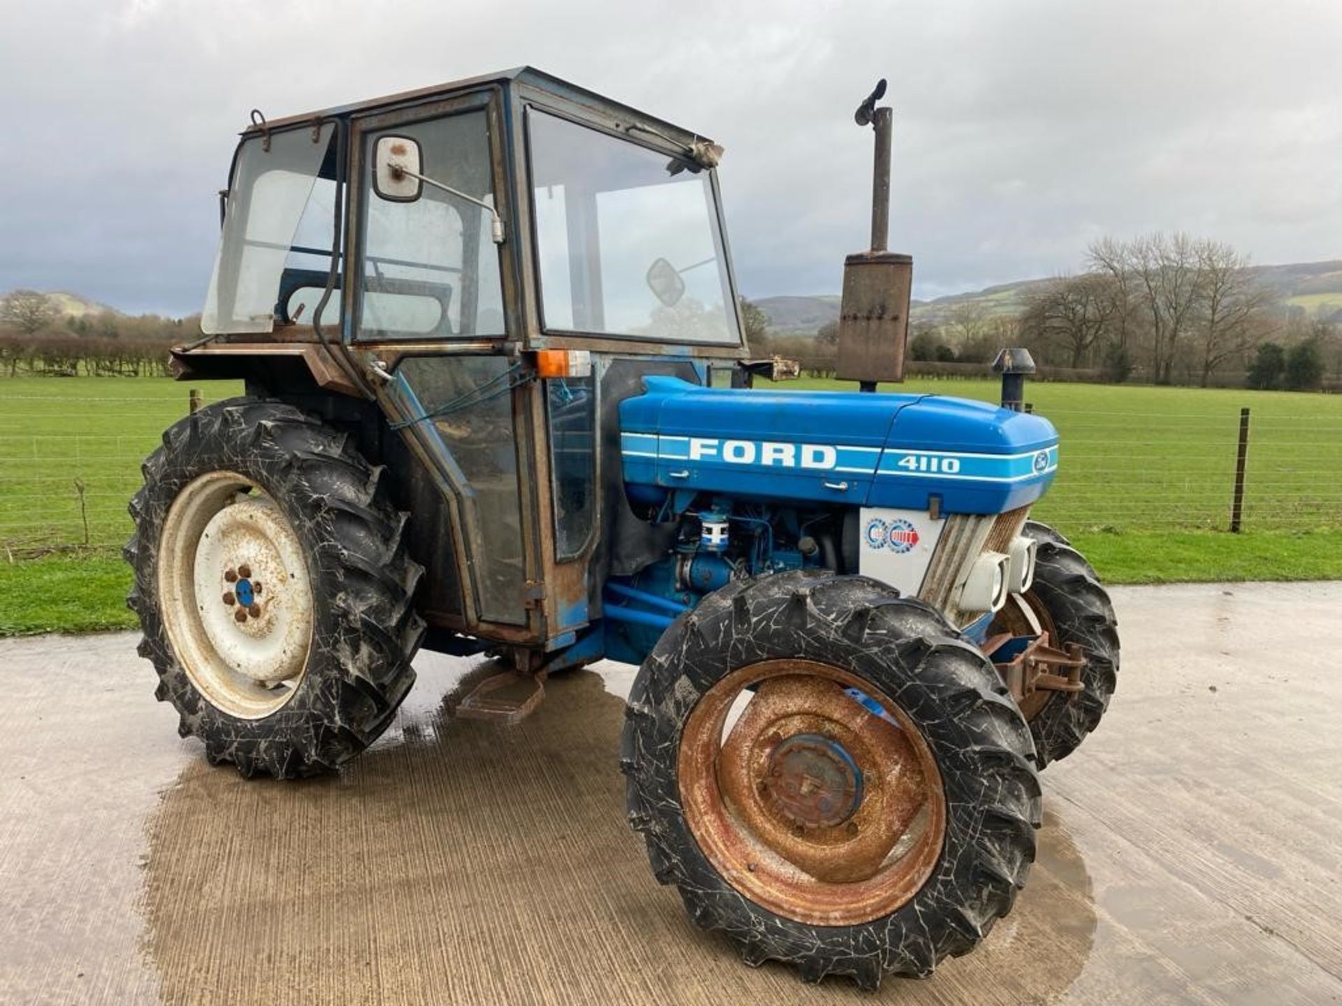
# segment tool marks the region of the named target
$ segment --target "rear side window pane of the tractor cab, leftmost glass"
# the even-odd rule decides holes
[[[336,182],[319,174],[330,162],[334,133],[326,123],[315,139],[303,126],[272,133],[268,149],[262,137],[243,142],[200,317],[207,335],[272,331],[276,311],[286,321],[305,311],[303,321],[311,319],[330,268]],[[279,303],[286,271],[290,283]],[[289,287],[301,303],[289,303]]]

